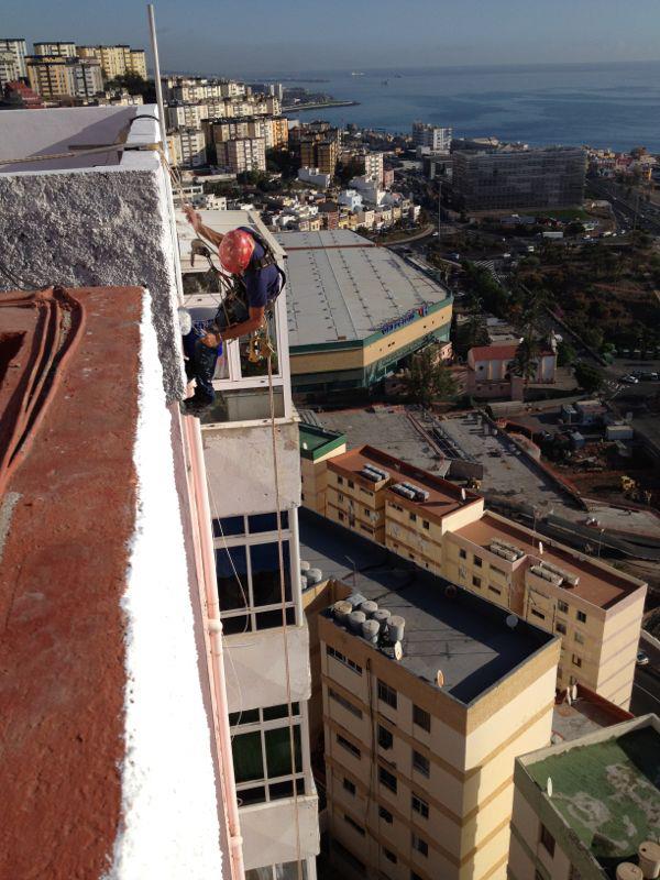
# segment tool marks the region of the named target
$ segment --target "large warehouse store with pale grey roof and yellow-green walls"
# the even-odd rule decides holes
[[[431,341],[447,344],[452,297],[349,230],[283,232],[292,383],[302,394],[364,388]]]

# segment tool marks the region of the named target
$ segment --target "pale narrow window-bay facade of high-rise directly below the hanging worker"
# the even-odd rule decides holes
[[[201,211],[201,217],[219,232],[255,228],[284,261],[284,251],[254,215]],[[195,272],[204,278],[205,267],[190,262],[195,233],[183,215],[179,230],[184,276]],[[218,295],[190,295],[193,318],[215,315]],[[277,352],[272,380],[264,362],[250,362],[244,341],[229,343],[216,373],[218,406],[202,425],[220,610],[234,672],[228,696],[245,867],[254,870],[249,870],[249,880],[270,878],[271,869],[274,879],[296,880],[297,864],[286,870],[278,866],[297,861],[307,880],[314,880],[319,849],[307,708],[309,634],[300,585],[298,420],[292,403],[286,296],[285,289],[270,319]]]

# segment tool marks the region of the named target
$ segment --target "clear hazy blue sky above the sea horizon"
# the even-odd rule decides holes
[[[138,0],[19,0],[0,36],[147,47]],[[161,66],[207,74],[660,58],[660,0],[161,0]]]

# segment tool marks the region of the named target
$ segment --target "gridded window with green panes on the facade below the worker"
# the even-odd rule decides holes
[[[277,707],[280,710],[282,707]],[[285,713],[287,707],[284,706]],[[293,727],[294,759],[292,767],[292,728],[288,718],[257,721],[255,729],[248,729],[240,718],[241,733],[233,734],[232,756],[237,793],[242,805],[292,798],[296,791],[304,793],[300,722]],[[299,708],[298,708],[299,712]],[[243,713],[245,715],[246,713]]]

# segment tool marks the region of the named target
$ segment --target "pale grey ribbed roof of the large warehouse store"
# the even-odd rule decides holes
[[[287,253],[289,343],[359,342],[449,296],[386,248],[350,230],[280,232]]]

